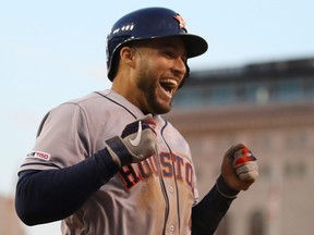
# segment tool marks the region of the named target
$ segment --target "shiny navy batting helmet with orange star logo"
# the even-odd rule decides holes
[[[120,49],[129,41],[180,36],[188,58],[197,57],[207,50],[204,38],[188,34],[180,14],[166,8],[146,8],[131,12],[116,22],[107,37],[108,78],[113,79]],[[189,67],[188,67],[189,69]]]

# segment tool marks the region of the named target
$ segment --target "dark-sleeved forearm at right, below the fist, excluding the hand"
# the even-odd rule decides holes
[[[214,234],[238,193],[219,176],[210,191],[192,208],[192,234]]]

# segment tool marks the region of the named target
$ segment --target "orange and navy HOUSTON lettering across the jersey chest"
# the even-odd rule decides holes
[[[120,175],[128,190],[141,181],[160,174],[162,177],[176,177],[177,181],[185,182],[191,188],[193,186],[192,164],[184,158],[176,154],[171,156],[169,152],[160,152],[159,159],[150,157],[137,164],[125,165],[120,170]]]

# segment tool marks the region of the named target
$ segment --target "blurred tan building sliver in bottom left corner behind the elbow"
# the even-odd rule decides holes
[[[12,198],[0,196],[0,235],[25,235]]]

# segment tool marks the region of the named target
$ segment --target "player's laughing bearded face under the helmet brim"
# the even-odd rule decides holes
[[[178,37],[146,41],[136,47],[136,92],[144,112],[167,113],[186,73],[186,51]]]

